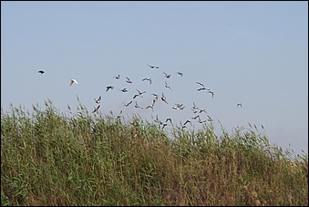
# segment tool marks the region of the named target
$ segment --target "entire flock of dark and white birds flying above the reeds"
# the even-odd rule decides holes
[[[150,67],[151,69],[159,69],[160,67],[158,66],[151,66],[151,65],[148,65],[148,67]],[[44,70],[39,70],[38,73],[40,73],[41,75],[45,73]],[[169,79],[171,77],[171,74],[168,74],[166,72],[163,72],[164,74],[164,78],[166,79]],[[176,72],[176,74],[178,74],[180,77],[183,76],[183,73],[182,72]],[[116,77],[113,77],[113,78],[116,78],[116,79],[119,79],[120,78],[120,75],[116,76]],[[149,84],[151,85],[152,83],[152,79],[151,78],[142,78],[141,81],[148,81]],[[132,84],[132,80],[128,77],[126,77],[126,82],[128,84]],[[69,82],[69,86],[72,86],[73,84],[78,84],[77,80],[72,78],[70,79],[70,82]],[[170,85],[168,84],[167,80],[164,81],[165,83],[165,88],[169,88],[171,91],[173,91],[173,89],[170,87]],[[199,88],[197,88],[197,91],[207,91],[207,93],[211,94],[211,98],[214,97],[214,92],[210,89],[210,88],[206,88],[204,86],[203,83],[199,82],[199,81],[196,81],[196,84],[199,86]],[[106,92],[108,92],[109,90],[112,90],[114,89],[114,86],[112,85],[109,85],[106,87]],[[119,89],[121,92],[123,93],[127,93],[128,92],[128,88],[121,88]],[[146,93],[146,91],[140,91],[139,89],[136,89],[137,93],[132,97],[132,99],[128,102],[128,103],[124,103],[122,102],[122,104],[125,106],[125,107],[129,107],[130,104],[133,103],[133,99],[135,100],[135,105],[134,107],[136,109],[144,109],[143,107],[139,106],[138,104],[138,101],[136,98],[140,97],[140,98],[143,98],[142,97],[142,94]],[[156,93],[152,93],[151,95],[154,96],[154,98],[152,99],[152,102],[145,107],[145,109],[151,109],[152,112],[154,112],[154,105],[155,103],[160,99],[162,102],[164,102],[165,104],[169,104],[168,102],[168,99],[165,97],[164,95],[164,92],[162,92],[162,94],[156,94]],[[100,101],[101,101],[101,96],[99,96],[98,98],[94,98],[95,100],[95,103],[98,104],[97,107],[95,107],[95,109],[93,109],[92,113],[96,113],[98,112],[98,109],[100,108]],[[242,108],[242,103],[237,103],[236,107],[240,107]],[[68,107],[69,108],[69,107]],[[182,110],[184,109],[185,106],[183,104],[180,104],[180,103],[176,103],[175,106],[172,106],[171,109],[175,109],[175,110]],[[70,109],[70,108],[69,108]],[[187,119],[184,121],[183,124],[181,124],[180,122],[180,125],[181,127],[180,128],[186,128],[187,127],[187,124],[190,124],[192,126],[192,123],[191,123],[191,120],[197,120],[198,123],[205,123],[206,121],[212,121],[213,119],[211,119],[211,117],[208,115],[206,109],[201,109],[199,107],[196,106],[195,102],[193,101],[192,103],[192,108],[191,108],[192,112],[193,112],[193,116],[191,117],[191,119]],[[113,115],[113,112],[110,111],[111,115]],[[205,113],[206,116],[207,116],[207,119],[201,119],[201,113]],[[118,116],[117,116],[117,119],[121,118],[122,117],[122,110],[120,110],[120,112],[118,113]],[[151,115],[152,119],[153,116]],[[159,118],[158,118],[158,115],[156,115],[156,119],[154,119],[154,121],[158,124],[160,124],[160,126],[162,127],[161,129],[164,129],[164,127],[168,126],[168,123],[170,122],[170,124],[172,125],[172,120],[170,118],[166,119],[165,122],[162,122]],[[178,126],[177,126],[178,127]],[[179,127],[178,127],[179,128]]]

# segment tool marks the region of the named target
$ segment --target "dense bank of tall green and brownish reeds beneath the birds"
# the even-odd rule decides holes
[[[251,129],[170,129],[46,108],[1,112],[1,205],[302,205],[308,156]]]

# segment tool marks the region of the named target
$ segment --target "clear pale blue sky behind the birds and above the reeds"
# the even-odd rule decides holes
[[[136,89],[146,91],[142,98],[132,98]],[[153,112],[145,109],[152,93],[169,104],[159,98]],[[194,102],[218,134],[218,119],[227,131],[250,122],[271,143],[308,153],[308,2],[2,1],[1,108],[45,109],[49,98],[68,113],[77,96],[90,113],[101,96],[102,114],[158,115],[179,126],[190,119],[200,129]],[[185,108],[172,109],[176,103]]]

